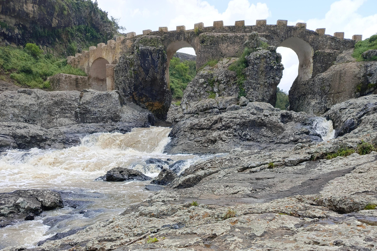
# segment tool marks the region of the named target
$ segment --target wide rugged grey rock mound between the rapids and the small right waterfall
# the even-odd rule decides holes
[[[271,147],[322,141],[305,113],[282,111],[269,103],[250,102],[235,111],[203,113],[173,126],[168,153],[229,152],[234,148]]]

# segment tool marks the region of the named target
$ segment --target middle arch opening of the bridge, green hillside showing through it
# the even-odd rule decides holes
[[[189,82],[189,77],[184,77],[184,75],[189,75],[190,78],[193,78],[196,75],[196,54],[193,55],[193,57],[195,58],[179,57],[178,59],[174,59],[172,61],[174,54],[178,50],[184,48],[191,48],[193,49],[193,52],[195,52],[195,49],[186,41],[173,42],[169,44],[166,48],[167,62],[165,77],[167,84],[170,90],[172,91],[173,100],[180,100],[183,96],[183,90],[186,88],[186,85]],[[183,53],[186,52],[187,50],[183,50]],[[174,69],[170,67],[171,65],[172,67],[174,67]],[[170,74],[174,75],[170,77]]]

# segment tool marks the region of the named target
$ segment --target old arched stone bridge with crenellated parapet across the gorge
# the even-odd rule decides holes
[[[116,75],[114,69],[121,56],[140,53],[140,46],[158,47],[163,50],[160,60],[165,61],[165,66],[159,68],[159,71],[165,71],[160,80],[168,87],[169,62],[177,50],[193,48],[198,69],[209,60],[239,57],[245,47],[255,46],[252,44],[255,42],[253,36],[258,33],[259,37],[269,45],[288,47],[296,52],[299,67],[298,76],[293,85],[294,89],[295,84],[299,85],[300,82],[325,72],[333,65],[340,53],[354,48],[356,41],[362,39],[361,35],[344,39],[344,32],[336,32],[334,36],[331,36],[325,34],[324,28],[313,31],[306,29],[305,23],[297,23],[296,26],[289,26],[287,23],[286,20],[278,20],[276,25],[267,25],[266,20],[257,20],[256,25],[244,25],[244,21],[236,21],[234,26],[224,26],[222,21],[215,21],[210,27],[205,27],[203,23],[195,24],[194,29],[191,30],[186,30],[185,26],[177,26],[174,31],[168,31],[167,27],[160,27],[158,31],[144,30],[140,35],[129,32],[126,37],[118,36],[116,41],[109,40],[107,44],[101,43],[97,47],[90,47],[89,51],[83,50],[75,56],[69,56],[68,63],[80,68],[88,75],[93,89],[121,89],[114,81]],[[147,60],[153,60],[150,54],[146,56],[149,56]],[[140,64],[143,63],[148,64],[147,62]],[[138,77],[140,81],[148,82],[150,81],[148,76],[148,74],[141,74]],[[123,93],[127,92],[129,91],[123,90]],[[294,94],[295,90],[291,89],[290,96]],[[128,95],[132,96],[132,93]],[[164,102],[166,103],[166,99]],[[151,109],[148,105],[144,106]],[[296,106],[291,104],[291,107]]]

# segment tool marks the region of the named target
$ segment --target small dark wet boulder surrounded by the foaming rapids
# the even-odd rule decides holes
[[[116,167],[109,170],[103,178],[105,181],[125,181],[125,180],[151,180],[151,177],[145,176],[143,173],[124,167]]]

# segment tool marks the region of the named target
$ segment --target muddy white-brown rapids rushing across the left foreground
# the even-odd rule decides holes
[[[170,130],[150,127],[135,128],[126,134],[96,133],[84,137],[80,146],[69,149],[13,150],[0,154],[1,193],[18,189],[51,189],[59,191],[65,201],[71,201],[64,208],[46,211],[33,221],[0,228],[0,249],[35,247],[38,241],[57,232],[105,221],[146,199],[150,193],[144,187],[149,182],[95,179],[118,166],[157,176],[159,169],[155,166],[140,165],[149,158],[188,160],[183,169],[187,168],[198,159],[197,156],[162,153],[169,142]]]

